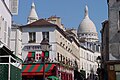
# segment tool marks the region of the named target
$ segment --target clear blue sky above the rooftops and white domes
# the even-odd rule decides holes
[[[78,28],[84,18],[84,9],[87,5],[89,17],[94,22],[99,40],[101,40],[101,23],[108,19],[107,0],[19,0],[18,15],[13,16],[14,22],[18,24],[27,23],[33,1],[39,19],[56,15],[61,17],[62,24],[66,28],[75,29]]]

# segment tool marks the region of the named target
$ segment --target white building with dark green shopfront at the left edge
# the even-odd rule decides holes
[[[14,3],[14,5],[13,5]],[[16,5],[16,6],[15,6]],[[10,44],[13,8],[16,13],[18,0],[0,0],[0,79],[21,80],[21,59]],[[16,75],[16,76],[15,76]]]

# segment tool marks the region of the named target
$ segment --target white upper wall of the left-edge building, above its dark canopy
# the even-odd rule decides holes
[[[9,0],[5,0],[6,3],[9,2]],[[9,4],[8,4],[9,5]],[[8,8],[9,9],[9,8]],[[11,28],[11,14],[9,10],[5,6],[5,4],[0,0],[0,17],[2,18],[2,22],[0,22],[0,40],[8,47],[10,47],[10,28]],[[5,22],[6,22],[6,28],[5,28]]]

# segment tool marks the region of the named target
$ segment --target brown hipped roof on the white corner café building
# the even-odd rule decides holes
[[[30,24],[27,24],[27,25],[23,25],[23,26],[20,26],[20,27],[34,27],[34,26],[57,26],[55,24],[52,24],[50,22],[48,22],[47,20],[45,19],[39,19],[33,23],[30,23]]]

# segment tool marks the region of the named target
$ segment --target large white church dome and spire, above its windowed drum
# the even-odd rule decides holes
[[[95,24],[88,16],[88,7],[85,7],[85,17],[78,27],[78,33],[97,33]]]

